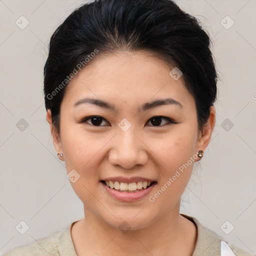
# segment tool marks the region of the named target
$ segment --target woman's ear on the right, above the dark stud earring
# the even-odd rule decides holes
[[[200,136],[197,140],[197,151],[203,150],[205,151],[208,143],[210,142],[211,133],[213,131],[214,125],[215,125],[215,107],[210,107],[210,115],[207,120],[207,123],[204,124],[202,133],[200,132]]]

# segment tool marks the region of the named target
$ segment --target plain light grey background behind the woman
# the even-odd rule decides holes
[[[53,147],[42,84],[50,35],[84,2],[0,0],[0,255],[83,217]],[[255,253],[256,1],[177,3],[211,35],[220,76],[216,125],[180,212]],[[29,21],[24,29],[21,15]],[[22,220],[29,226],[24,234],[15,228]]]

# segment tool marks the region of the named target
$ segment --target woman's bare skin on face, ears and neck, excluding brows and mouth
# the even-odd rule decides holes
[[[215,108],[199,132],[194,98],[181,78],[174,80],[173,67],[150,52],[117,52],[93,59],[68,84],[60,106],[60,134],[50,124],[54,147],[63,153],[67,173],[75,169],[80,178],[71,183],[84,204],[85,218],[76,221],[71,236],[78,256],[82,255],[192,255],[196,242],[195,225],[179,214],[180,197],[192,166],[158,197],[148,197],[172,177],[179,166],[198,150],[205,150],[215,124]],[[75,102],[94,97],[115,105],[116,112],[93,104]],[[182,104],[161,105],[138,112],[144,102],[171,97]],[[100,126],[89,115],[101,116]],[[160,119],[166,116],[177,123]],[[127,131],[118,123],[126,118]],[[197,161],[199,157],[195,159]],[[111,197],[99,180],[110,176],[141,176],[157,181],[148,196],[134,202]],[[130,230],[118,226],[126,221]]]

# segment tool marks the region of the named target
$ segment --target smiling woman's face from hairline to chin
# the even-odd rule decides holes
[[[63,153],[85,214],[106,225],[118,228],[126,221],[138,229],[178,213],[199,159],[196,151],[207,145],[210,133],[203,142],[195,101],[181,78],[170,76],[171,69],[145,52],[108,54],[92,60],[68,84],[54,146]],[[151,104],[155,100],[162,103]],[[129,191],[141,188],[142,181],[155,182],[139,192],[122,192],[101,180],[119,181],[112,183],[115,188]]]

